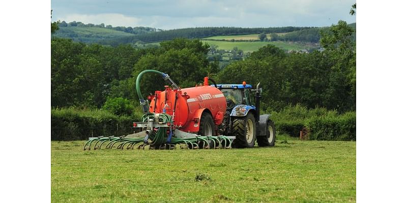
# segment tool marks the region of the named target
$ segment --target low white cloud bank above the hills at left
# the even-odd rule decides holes
[[[136,17],[129,17],[124,16],[123,14],[119,13],[102,13],[102,14],[95,14],[95,15],[84,15],[84,14],[69,14],[61,20],[65,20],[66,22],[82,22],[84,24],[93,23],[93,24],[100,24],[104,23],[105,25],[112,25],[112,26],[142,26],[140,25],[140,18]]]

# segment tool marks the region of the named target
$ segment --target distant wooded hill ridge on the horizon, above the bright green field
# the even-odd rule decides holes
[[[355,28],[356,23],[348,24]],[[60,29],[52,37],[70,38],[77,42],[99,43],[117,46],[119,44],[143,44],[172,40],[175,38],[205,39],[205,40],[256,40],[259,33],[267,33],[270,41],[286,42],[319,42],[319,32],[329,27],[195,27],[162,30],[152,27],[112,27],[83,24],[81,22],[61,22]],[[245,36],[239,38],[238,36]],[[227,36],[227,37],[219,37]],[[356,36],[356,34],[355,34]],[[356,40],[356,37],[355,37]]]

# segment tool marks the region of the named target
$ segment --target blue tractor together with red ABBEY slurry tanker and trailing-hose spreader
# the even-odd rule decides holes
[[[171,86],[156,90],[147,100],[140,80],[146,73],[159,74]],[[213,85],[209,85],[209,81]],[[261,89],[246,84],[219,84],[208,77],[203,85],[181,89],[171,78],[156,70],[141,72],[136,91],[144,115],[133,127],[142,131],[127,137],[90,138],[83,149],[185,149],[245,148],[274,146],[275,127],[270,115],[259,115]],[[255,92],[254,98],[251,92]]]

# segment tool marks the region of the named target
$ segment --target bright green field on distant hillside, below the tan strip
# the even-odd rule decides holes
[[[301,49],[310,49],[314,48],[313,46],[307,46],[304,44],[296,42],[226,42],[226,41],[209,41],[202,40],[203,43],[208,43],[209,45],[217,45],[218,49],[231,50],[234,47],[242,49],[244,52],[253,52],[257,51],[260,47],[263,47],[267,44],[275,45],[284,50],[301,50]]]

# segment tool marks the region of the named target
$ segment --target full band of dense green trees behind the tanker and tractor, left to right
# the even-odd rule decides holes
[[[179,38],[161,42],[157,48],[135,49],[130,45],[106,47],[53,38],[51,106],[101,108],[108,98],[117,97],[137,101],[135,78],[143,70],[156,69],[169,74],[181,87],[195,86],[205,76],[219,83],[260,82],[265,109],[302,104],[351,111],[356,109],[353,31],[339,21],[321,32],[323,52],[284,53],[267,45],[222,70],[218,60],[208,60],[210,46],[198,39]],[[165,85],[155,75],[143,78],[141,84],[146,94]]]

